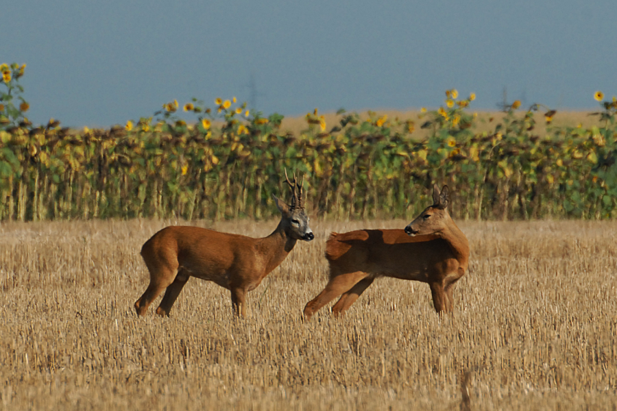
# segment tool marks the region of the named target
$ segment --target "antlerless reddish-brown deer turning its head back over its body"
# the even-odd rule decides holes
[[[469,245],[448,214],[448,186],[433,188],[433,205],[404,230],[360,229],[332,233],[326,242],[330,281],[304,308],[304,319],[341,295],[332,307],[347,310],[377,277],[426,282],[438,313],[452,310],[455,283],[467,270]]]

